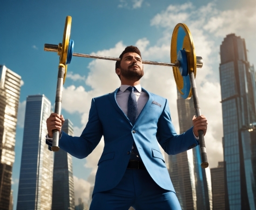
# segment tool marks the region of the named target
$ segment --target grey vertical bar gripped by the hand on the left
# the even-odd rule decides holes
[[[58,71],[58,80],[57,80],[57,88],[56,88],[56,97],[55,97],[55,109],[54,113],[61,115],[61,99],[62,99],[62,90],[63,90],[63,78],[65,73],[65,67],[59,66]],[[59,151],[59,131],[53,130],[53,145],[52,151]]]

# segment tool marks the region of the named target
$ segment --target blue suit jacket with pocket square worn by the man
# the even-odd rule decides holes
[[[147,92],[149,99],[135,125],[122,112],[115,100],[115,92],[93,98],[88,123],[80,137],[62,131],[61,149],[77,158],[87,157],[104,136],[104,149],[98,163],[94,193],[110,190],[121,180],[130,158],[133,141],[141,159],[156,184],[175,191],[157,141],[169,155],[198,145],[192,128],[177,135],[172,124],[168,100]]]

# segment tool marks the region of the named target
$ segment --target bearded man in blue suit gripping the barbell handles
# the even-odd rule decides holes
[[[52,130],[60,133],[59,146],[77,158],[87,157],[104,137],[90,210],[181,210],[158,143],[169,155],[198,145],[198,130],[207,130],[204,116],[177,135],[168,100],[141,88],[141,52],[128,46],[116,62],[120,88],[93,98],[88,123],[80,137],[61,131],[63,116],[47,119],[47,144]]]

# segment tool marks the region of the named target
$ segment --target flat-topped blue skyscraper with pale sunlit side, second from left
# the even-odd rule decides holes
[[[50,210],[53,152],[45,144],[51,102],[44,95],[27,97],[17,210]]]

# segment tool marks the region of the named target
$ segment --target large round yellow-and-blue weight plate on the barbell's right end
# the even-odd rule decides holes
[[[175,63],[177,60],[177,54],[180,50],[185,50],[188,59],[188,72],[194,72],[196,75],[196,56],[195,47],[192,35],[188,26],[183,23],[179,23],[175,26],[171,39],[171,63]],[[189,99],[192,96],[190,88],[189,75],[182,77],[179,68],[173,67],[174,79],[179,92],[183,98]]]

